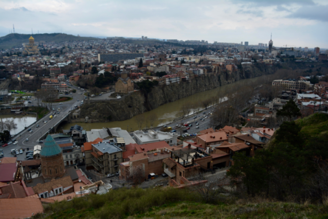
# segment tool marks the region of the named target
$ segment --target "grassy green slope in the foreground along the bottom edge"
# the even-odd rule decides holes
[[[328,218],[328,206],[225,197],[205,204],[188,189],[118,189],[45,205],[32,218]]]

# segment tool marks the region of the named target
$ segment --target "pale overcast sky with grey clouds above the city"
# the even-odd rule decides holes
[[[63,32],[328,48],[327,0],[1,0],[0,36]]]

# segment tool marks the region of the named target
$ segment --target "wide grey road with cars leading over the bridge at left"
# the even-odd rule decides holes
[[[3,149],[4,156],[13,156],[11,154],[12,149],[25,149],[23,154],[17,155],[17,160],[24,160],[26,157],[26,149],[29,148],[30,150],[33,150],[33,147],[36,144],[39,144],[39,138],[43,136],[46,132],[48,132],[50,129],[53,128],[54,125],[56,125],[59,121],[61,121],[64,117],[66,117],[70,113],[70,109],[74,108],[75,105],[80,105],[80,101],[83,100],[85,97],[83,95],[83,90],[78,89],[76,86],[70,85],[73,89],[76,89],[76,93],[72,93],[72,95],[61,95],[62,97],[70,96],[73,97],[72,100],[63,102],[63,104],[60,103],[53,103],[52,108],[55,109],[55,111],[52,111],[46,115],[41,120],[37,121],[36,123],[32,124],[29,127],[26,127],[26,129],[21,132],[20,134],[16,135],[15,137],[12,137],[12,139],[16,139],[18,143],[16,145],[10,144],[6,147],[1,147]],[[60,96],[60,97],[61,97]],[[78,101],[79,100],[79,101]],[[36,106],[37,100],[31,100],[32,103],[29,103],[29,106]],[[53,117],[51,120],[49,119],[49,116],[52,115],[53,112],[57,112],[57,109],[60,108],[59,114],[56,113],[56,117]],[[44,121],[47,121],[44,123]],[[39,125],[38,128],[36,126]],[[32,133],[29,133],[27,130],[31,128]],[[60,127],[59,127],[60,128]],[[26,141],[28,139],[28,141]],[[42,145],[42,143],[41,143]]]

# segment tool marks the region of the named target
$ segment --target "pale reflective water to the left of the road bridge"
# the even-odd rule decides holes
[[[0,118],[3,122],[9,119],[14,119],[14,122],[17,124],[17,129],[11,130],[11,135],[16,135],[17,133],[23,131],[25,127],[29,127],[32,123],[36,122],[36,116],[34,115],[17,115],[17,114],[11,114],[11,115],[0,115]]]

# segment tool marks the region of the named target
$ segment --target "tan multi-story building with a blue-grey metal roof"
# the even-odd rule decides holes
[[[103,176],[119,172],[119,165],[123,162],[122,149],[109,140],[92,144],[91,162]]]

